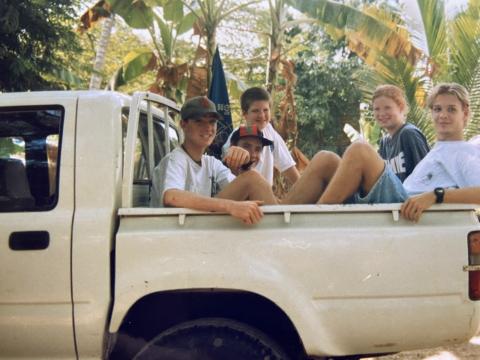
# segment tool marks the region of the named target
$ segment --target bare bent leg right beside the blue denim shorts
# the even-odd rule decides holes
[[[348,147],[340,166],[318,201],[341,204],[359,189],[368,193],[382,175],[385,163],[375,149],[364,142]]]

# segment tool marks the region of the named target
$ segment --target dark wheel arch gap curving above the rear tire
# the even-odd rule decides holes
[[[205,317],[245,323],[269,335],[292,358],[305,356],[293,322],[270,299],[234,289],[188,289],[151,293],[136,301],[113,335],[112,357],[131,358],[158,333],[181,322]]]

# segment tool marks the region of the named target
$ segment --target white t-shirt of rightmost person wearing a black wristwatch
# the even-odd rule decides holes
[[[436,187],[480,186],[480,147],[466,141],[439,141],[403,183],[409,194]]]

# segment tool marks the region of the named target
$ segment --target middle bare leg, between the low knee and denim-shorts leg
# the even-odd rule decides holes
[[[315,204],[335,174],[340,160],[337,154],[330,151],[315,154],[281,203]]]

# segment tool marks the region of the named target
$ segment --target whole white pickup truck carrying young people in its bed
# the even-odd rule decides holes
[[[1,359],[323,359],[466,341],[480,225],[437,205],[149,208],[158,95],[0,94]]]

